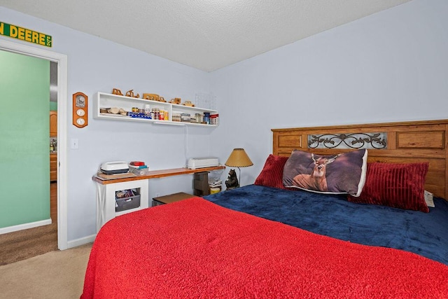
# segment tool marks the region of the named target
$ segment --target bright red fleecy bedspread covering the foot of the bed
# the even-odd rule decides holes
[[[448,267],[195,197],[106,223],[81,298],[448,298]]]

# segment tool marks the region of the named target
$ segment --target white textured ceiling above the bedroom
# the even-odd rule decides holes
[[[0,0],[0,5],[214,71],[407,1]]]

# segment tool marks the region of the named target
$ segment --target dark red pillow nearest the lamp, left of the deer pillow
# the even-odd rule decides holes
[[[288,157],[270,154],[260,174],[255,179],[255,185],[286,189],[283,186],[283,167]]]

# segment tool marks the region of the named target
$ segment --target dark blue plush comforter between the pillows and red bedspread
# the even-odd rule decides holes
[[[249,185],[204,198],[237,211],[350,242],[417,253],[448,265],[448,202],[429,213],[348,202],[323,195]]]

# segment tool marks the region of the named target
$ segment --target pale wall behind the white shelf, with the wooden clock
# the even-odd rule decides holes
[[[68,56],[68,116],[72,113],[74,92],[84,92],[89,97],[87,127],[78,129],[71,125],[71,117],[66,120],[67,140],[79,140],[79,149],[69,149],[67,153],[69,242],[96,232],[95,186],[91,178],[102,162],[143,160],[151,169],[164,169],[183,167],[188,158],[210,155],[209,139],[213,128],[189,127],[187,132],[182,126],[92,119],[95,92],[133,89],[140,95],[148,92],[165,99],[181,97],[194,101],[196,92],[210,92],[206,72],[3,7],[0,7],[0,20],[52,36],[53,46],[45,50]],[[34,46],[5,36],[0,39]],[[192,178],[176,176],[151,180],[149,196],[191,193]]]

